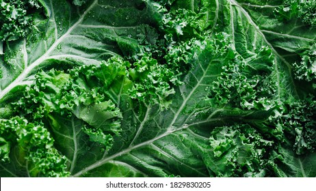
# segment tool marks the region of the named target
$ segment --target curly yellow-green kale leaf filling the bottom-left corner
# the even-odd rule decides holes
[[[66,177],[66,158],[43,124],[22,117],[0,119],[1,176]],[[5,168],[3,168],[5,165]]]

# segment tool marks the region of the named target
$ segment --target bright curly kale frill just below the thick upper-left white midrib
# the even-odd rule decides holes
[[[70,118],[70,123],[81,123],[78,128],[82,128],[90,141],[109,149],[114,134],[120,134],[122,115],[104,89],[99,87],[106,88],[105,85],[110,86],[114,78],[124,76],[121,67],[124,69],[114,63],[101,63],[100,67],[82,66],[68,73],[56,70],[39,72],[36,84],[27,87],[24,97],[13,103],[15,111],[34,122],[44,120],[57,132],[65,128],[65,122]],[[104,78],[103,71],[110,72],[111,77]]]

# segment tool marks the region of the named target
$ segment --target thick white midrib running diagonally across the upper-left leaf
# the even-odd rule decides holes
[[[45,61],[48,57],[49,54],[55,50],[55,48],[65,39],[68,37],[68,35],[83,21],[83,19],[85,18],[85,16],[88,14],[88,12],[94,8],[94,5],[96,5],[96,3],[98,2],[98,0],[95,0],[90,7],[85,10],[85,12],[83,12],[83,14],[79,17],[78,21],[68,29],[68,31],[66,31],[66,33],[64,33],[64,35],[62,35],[60,38],[58,38],[51,46],[51,48],[49,48],[49,50],[47,50],[46,53],[44,53],[44,55],[42,55],[41,57],[39,57],[38,59],[36,59],[36,61],[34,61],[33,63],[29,64],[24,70],[23,72],[17,77],[15,78],[15,80],[13,80],[12,83],[10,83],[10,85],[8,85],[7,87],[5,87],[5,89],[3,89],[3,91],[1,91],[0,93],[0,100],[7,94],[9,93],[14,87],[20,85],[20,83],[27,78],[27,76],[29,75],[29,73],[34,70],[34,68],[36,68],[38,65],[40,65],[40,63],[42,63],[43,61]],[[27,65],[27,64],[26,64]]]

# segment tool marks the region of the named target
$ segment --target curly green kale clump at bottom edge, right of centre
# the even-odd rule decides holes
[[[269,152],[274,141],[248,125],[224,126],[211,132],[209,143],[213,172],[218,177],[264,177],[269,175]]]

